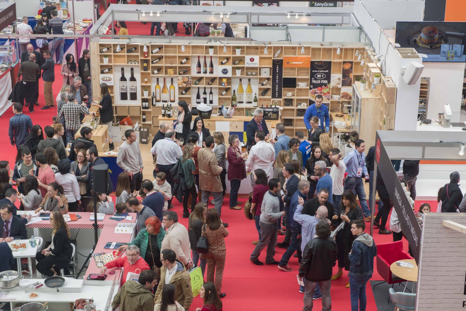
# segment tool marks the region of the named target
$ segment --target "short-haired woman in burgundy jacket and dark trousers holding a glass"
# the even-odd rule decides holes
[[[240,189],[241,180],[246,178],[246,165],[244,162],[247,159],[247,153],[241,153],[240,139],[238,135],[233,134],[228,137],[228,151],[226,152],[228,160],[228,180],[230,181],[230,209],[240,210],[238,204],[238,190]]]

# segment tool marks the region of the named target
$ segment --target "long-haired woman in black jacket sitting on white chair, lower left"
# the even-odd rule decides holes
[[[56,277],[60,269],[68,266],[73,255],[73,247],[69,242],[68,224],[65,223],[60,211],[50,213],[52,225],[52,243],[40,253],[35,254],[36,269],[47,277]]]

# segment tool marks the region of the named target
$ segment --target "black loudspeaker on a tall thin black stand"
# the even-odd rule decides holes
[[[92,168],[92,191],[93,193],[106,193],[109,189],[109,165],[108,164],[97,164],[94,165]],[[97,196],[92,195],[94,198],[94,223],[92,226],[94,227],[94,246],[89,253],[89,256],[86,258],[84,264],[82,264],[81,269],[79,270],[76,278],[81,275],[82,270],[85,268],[86,264],[88,263],[90,257],[94,253],[96,249],[97,241],[99,239],[97,234]]]

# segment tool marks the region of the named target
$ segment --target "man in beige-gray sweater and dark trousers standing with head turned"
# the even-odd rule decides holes
[[[117,165],[130,176],[130,190],[133,193],[134,190],[141,189],[144,164],[139,142],[136,141],[136,133],[132,129],[127,129],[124,137],[126,141],[118,149]]]

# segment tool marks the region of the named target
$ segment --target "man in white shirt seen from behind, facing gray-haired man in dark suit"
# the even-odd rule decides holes
[[[249,156],[246,160],[246,171],[254,172],[256,169],[263,169],[267,174],[267,180],[270,177],[270,166],[275,160],[274,147],[265,141],[265,133],[256,131],[254,135],[256,144],[249,151]],[[254,188],[256,182],[251,174],[251,186]]]

